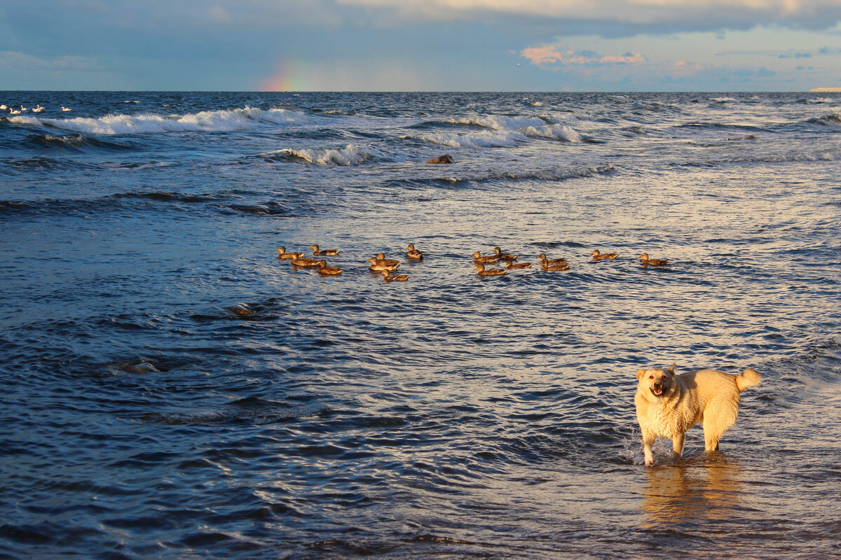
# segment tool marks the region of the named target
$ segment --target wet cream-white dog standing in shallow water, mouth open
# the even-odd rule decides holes
[[[672,459],[680,458],[686,431],[701,422],[706,450],[716,451],[718,440],[738,416],[739,393],[759,383],[754,369],[745,369],[739,375],[715,369],[675,375],[674,365],[637,371],[634,401],[647,467],[654,464],[651,447],[658,437],[671,439]]]

